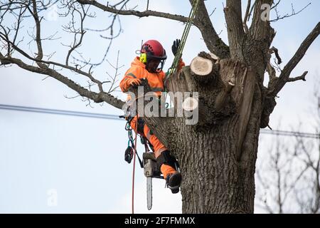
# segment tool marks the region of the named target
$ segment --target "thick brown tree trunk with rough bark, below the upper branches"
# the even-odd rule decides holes
[[[204,53],[199,56],[210,58]],[[171,123],[176,130],[168,145],[181,164],[183,213],[252,213],[260,87],[254,71],[244,63],[211,61],[210,82],[198,80],[191,66],[167,83],[171,91],[201,91],[199,100],[210,107],[197,125],[186,125],[183,118]]]

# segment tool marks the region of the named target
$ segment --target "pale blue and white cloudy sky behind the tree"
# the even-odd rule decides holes
[[[272,46],[279,48],[284,62],[282,67],[320,19],[320,2],[308,2],[311,2],[311,6],[301,14],[272,24],[277,31]],[[283,14],[290,13],[291,3],[296,10],[307,4],[306,1],[283,1],[279,10]],[[146,7],[146,1],[131,1],[131,4],[138,5],[137,10],[144,10]],[[221,31],[220,36],[227,43],[223,1],[206,1],[206,5],[208,11],[213,11],[216,7],[211,19],[216,31]],[[149,9],[188,16],[190,5],[188,1],[150,1]],[[89,19],[85,27],[106,28],[111,20],[109,14],[91,10],[97,12],[97,18]],[[61,38],[54,44],[43,41],[43,46],[47,54],[56,51],[53,60],[60,61],[67,50],[60,43],[70,43],[73,37],[60,29],[65,19],[52,18],[49,12],[43,12],[47,19],[43,26],[43,36],[56,30]],[[164,70],[169,68],[174,57],[171,45],[176,38],[181,37],[183,24],[154,17],[138,19],[134,16],[122,16],[121,26],[122,33],[114,39],[107,53],[107,60],[115,64],[119,51],[119,66],[122,66],[118,72],[119,80],[136,56],[135,51],[141,46],[142,40],[157,39],[163,43],[169,53]],[[24,29],[28,28],[30,26],[26,25]],[[26,36],[21,46],[29,52],[36,51],[33,44],[28,45],[28,41],[30,38]],[[104,56],[107,44],[99,33],[89,32],[80,51],[97,63]],[[192,27],[183,51],[183,60],[189,64],[200,51],[208,49],[200,32]],[[320,38],[314,41],[292,72],[292,76],[300,76],[304,71],[309,71],[307,81],[287,84],[279,93],[277,106],[270,118],[272,127],[281,123],[282,130],[291,130],[292,126],[302,122],[301,130],[313,132],[311,98],[316,77],[320,76],[319,59]],[[107,77],[107,73],[114,74],[114,68],[107,62],[94,71],[95,76],[102,80]],[[91,103],[91,107],[82,98],[65,98],[65,95],[73,97],[77,94],[53,78],[45,78],[16,66],[0,68],[0,104],[122,114],[121,110],[106,103]],[[80,76],[70,75],[70,78],[86,85],[86,80]],[[124,99],[121,92],[114,95]],[[0,212],[130,213],[132,164],[128,165],[124,161],[124,150],[127,148],[124,125],[123,120],[0,110]],[[260,138],[258,161],[262,159],[264,146],[268,142],[268,136]],[[138,152],[143,152],[141,145]],[[154,180],[153,184],[153,208],[148,211],[146,178],[137,165],[135,212],[181,213],[181,195],[171,194],[170,190],[164,188],[163,180]],[[263,211],[256,209],[256,212]]]

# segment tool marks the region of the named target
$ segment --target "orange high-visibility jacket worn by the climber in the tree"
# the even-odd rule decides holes
[[[178,71],[185,66],[182,60],[179,62]],[[161,92],[164,91],[164,78],[166,73],[161,71],[159,73],[150,73],[146,70],[146,66],[144,63],[140,62],[140,58],[134,58],[134,61],[131,63],[131,68],[124,74],[124,78],[120,82],[120,88],[122,92],[127,92],[129,88],[129,78],[146,78],[148,80],[149,86],[151,90],[156,93],[156,95],[160,96]]]

